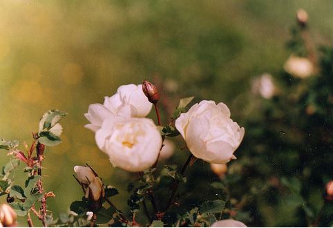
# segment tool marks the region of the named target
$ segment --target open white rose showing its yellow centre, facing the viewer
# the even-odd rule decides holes
[[[158,127],[146,118],[109,118],[96,132],[95,140],[114,167],[132,172],[151,167],[162,146]]]

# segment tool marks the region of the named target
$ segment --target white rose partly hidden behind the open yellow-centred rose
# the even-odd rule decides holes
[[[104,97],[104,104],[91,104],[84,116],[91,122],[87,129],[97,131],[108,117],[145,117],[153,104],[142,92],[142,85],[120,86],[112,97]]]

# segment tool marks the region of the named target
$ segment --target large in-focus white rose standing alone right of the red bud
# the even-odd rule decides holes
[[[191,153],[207,162],[223,164],[236,159],[234,151],[245,130],[230,119],[229,108],[222,102],[202,101],[175,121]]]

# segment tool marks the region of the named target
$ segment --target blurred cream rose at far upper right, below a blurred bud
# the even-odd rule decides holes
[[[291,55],[283,66],[285,71],[294,77],[309,77],[314,73],[314,66],[312,62],[303,57]]]

